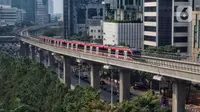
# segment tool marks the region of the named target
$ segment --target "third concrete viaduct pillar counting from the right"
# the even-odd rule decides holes
[[[101,65],[97,63],[90,63],[90,85],[91,87],[99,90],[100,89],[100,75],[99,71],[101,69]]]

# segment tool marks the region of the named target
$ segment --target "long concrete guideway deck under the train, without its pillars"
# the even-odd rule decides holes
[[[162,76],[168,76],[177,79],[183,79],[192,82],[200,82],[200,64],[192,62],[184,62],[171,59],[155,58],[142,56],[142,60],[124,60],[113,57],[105,57],[96,54],[79,52],[65,48],[39,43],[38,39],[31,37],[21,37],[21,41],[30,45],[52,51],[61,55],[67,55],[75,58],[85,59],[102,64],[113,65],[121,68],[128,68]]]

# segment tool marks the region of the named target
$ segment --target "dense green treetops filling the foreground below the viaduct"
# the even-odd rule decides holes
[[[69,90],[55,74],[27,58],[0,53],[0,112],[167,112],[148,93],[113,110],[100,91],[77,86]]]

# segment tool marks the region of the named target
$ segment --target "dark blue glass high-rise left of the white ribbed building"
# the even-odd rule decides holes
[[[64,36],[85,34],[93,21],[100,22],[103,15],[101,1],[64,0]]]

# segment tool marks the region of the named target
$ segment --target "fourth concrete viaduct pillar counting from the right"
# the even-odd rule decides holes
[[[64,56],[64,63],[63,63],[63,74],[64,74],[64,83],[70,89],[71,86],[71,64],[70,64],[70,57]]]

